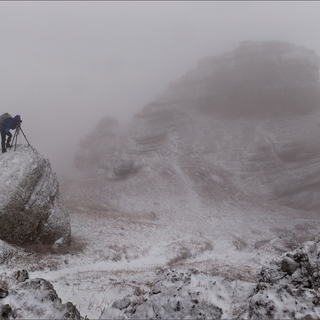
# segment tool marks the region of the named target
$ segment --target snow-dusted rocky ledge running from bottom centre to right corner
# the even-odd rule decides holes
[[[100,319],[319,319],[320,238],[264,266],[256,282],[162,270],[150,292],[125,297]]]

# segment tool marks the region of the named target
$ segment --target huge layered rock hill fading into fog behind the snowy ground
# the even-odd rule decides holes
[[[277,41],[243,42],[203,59],[126,130],[102,120],[82,141],[76,166],[109,181],[110,198],[135,198],[131,206],[157,202],[159,189],[188,202],[191,188],[203,206],[251,193],[317,211],[319,61],[312,50]]]

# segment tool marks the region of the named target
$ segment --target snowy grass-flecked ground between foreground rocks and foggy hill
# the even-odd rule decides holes
[[[125,296],[141,300],[158,281],[157,272],[167,268],[199,270],[219,283],[228,282],[223,289],[223,318],[228,318],[235,312],[237,283],[240,291],[249,291],[263,265],[319,228],[316,217],[301,218],[290,210],[283,216],[264,216],[260,207],[260,212],[244,215],[241,209],[221,205],[221,211],[210,214],[195,199],[183,211],[170,210],[170,199],[162,210],[118,211],[106,198],[97,201],[96,193],[82,187],[61,187],[70,211],[71,247],[22,250],[2,242],[6,249],[0,270],[10,274],[26,269],[30,278],[50,281],[63,303],[71,301],[89,319],[99,318]],[[297,225],[300,230],[292,227]],[[198,287],[196,283],[193,289]],[[10,304],[10,295],[2,302]]]

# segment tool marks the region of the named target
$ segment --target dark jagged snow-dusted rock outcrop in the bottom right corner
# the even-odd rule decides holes
[[[317,319],[319,252],[317,237],[263,267],[248,300],[250,319]]]

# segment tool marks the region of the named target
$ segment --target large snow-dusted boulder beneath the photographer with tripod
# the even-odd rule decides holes
[[[20,146],[0,157],[0,238],[14,244],[68,244],[69,213],[48,160]]]

